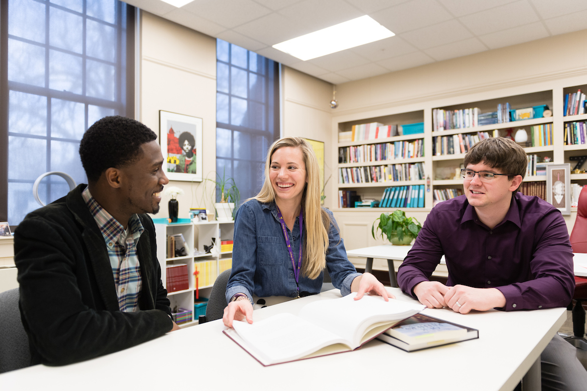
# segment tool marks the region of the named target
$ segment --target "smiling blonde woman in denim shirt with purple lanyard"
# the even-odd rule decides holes
[[[319,293],[324,268],[342,295],[393,297],[347,259],[332,212],[320,205],[318,178],[318,159],[302,138],[281,138],[269,148],[261,192],[237,211],[223,317],[227,327],[234,319],[252,323],[252,294]]]

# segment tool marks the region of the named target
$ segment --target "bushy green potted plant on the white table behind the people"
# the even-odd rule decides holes
[[[379,220],[377,229],[375,223]],[[392,242],[392,244],[407,245],[416,239],[422,225],[415,217],[406,217],[406,212],[403,210],[396,210],[393,213],[382,213],[377,217],[373,226],[371,227],[371,234],[373,239],[377,239],[375,234],[381,230],[381,237]]]

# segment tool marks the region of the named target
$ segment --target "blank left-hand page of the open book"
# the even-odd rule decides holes
[[[266,363],[292,361],[325,346],[345,343],[328,329],[289,313],[274,315],[253,324],[235,321],[232,327]]]

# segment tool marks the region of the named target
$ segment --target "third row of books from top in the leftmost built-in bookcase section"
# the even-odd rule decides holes
[[[404,163],[338,169],[338,183],[418,181],[424,179],[424,164]]]

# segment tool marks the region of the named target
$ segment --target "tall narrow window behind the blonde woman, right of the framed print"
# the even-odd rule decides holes
[[[221,39],[216,59],[216,172],[234,178],[244,200],[261,190],[279,137],[279,64]]]

